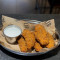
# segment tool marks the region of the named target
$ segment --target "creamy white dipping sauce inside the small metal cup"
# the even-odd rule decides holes
[[[21,34],[21,29],[15,25],[10,25],[4,29],[4,34],[8,37],[17,37]]]

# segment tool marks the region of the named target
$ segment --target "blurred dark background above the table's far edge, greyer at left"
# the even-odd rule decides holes
[[[0,14],[60,14],[60,0],[21,1],[22,0],[0,0]]]

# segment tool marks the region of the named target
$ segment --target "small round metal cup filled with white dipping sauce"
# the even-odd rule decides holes
[[[9,25],[3,30],[3,34],[8,43],[14,44],[18,36],[22,33],[21,28],[16,25]]]

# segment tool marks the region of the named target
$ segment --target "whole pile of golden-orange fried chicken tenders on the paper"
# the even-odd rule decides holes
[[[33,49],[39,52],[43,48],[53,48],[55,42],[53,36],[46,31],[44,26],[36,24],[34,31],[24,29],[18,44],[21,52],[29,52]]]

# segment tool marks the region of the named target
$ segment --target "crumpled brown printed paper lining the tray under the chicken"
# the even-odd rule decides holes
[[[2,30],[0,30],[0,44],[3,45],[4,47],[8,48],[8,49],[11,49],[11,50],[14,50],[14,51],[20,51],[20,48],[19,48],[18,44],[13,45],[13,44],[9,44],[6,41],[6,39],[5,39],[4,35],[3,35],[3,30],[8,25],[17,25],[18,27],[20,27],[22,29],[22,31],[24,29],[29,29],[29,30],[33,31],[34,26],[36,24],[33,24],[30,21],[31,20],[27,20],[27,21],[25,21],[25,20],[17,20],[15,18],[11,18],[11,17],[7,17],[7,16],[2,15],[3,27],[2,27]],[[44,21],[44,22],[40,22],[40,23],[37,23],[37,24],[43,25],[45,27],[46,31],[49,32],[51,35],[53,35],[55,33],[56,28],[55,28],[54,19]],[[55,40],[55,47],[57,47],[57,46],[58,46],[58,40]],[[44,48],[40,52],[43,52],[43,51],[45,52],[45,51],[48,51],[48,50],[50,50],[50,49]],[[35,51],[32,51],[32,53],[34,53],[34,52]]]

